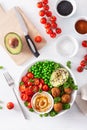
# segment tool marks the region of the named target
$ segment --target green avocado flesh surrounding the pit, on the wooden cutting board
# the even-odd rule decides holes
[[[18,45],[15,47],[12,47],[9,44],[9,39],[14,39],[14,38],[17,40]],[[4,43],[5,43],[6,49],[13,55],[19,54],[22,50],[22,47],[23,47],[22,40],[21,40],[20,36],[14,32],[10,32],[10,33],[6,34],[6,36],[4,38]]]

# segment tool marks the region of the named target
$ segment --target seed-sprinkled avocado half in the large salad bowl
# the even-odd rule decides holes
[[[69,72],[65,68],[56,69],[50,78],[50,83],[54,87],[63,85],[69,77]]]

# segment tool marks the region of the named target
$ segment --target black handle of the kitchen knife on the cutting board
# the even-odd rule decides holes
[[[39,54],[34,42],[32,41],[32,39],[29,37],[29,35],[26,35],[25,39],[27,41],[27,44],[28,44],[31,52],[34,54],[35,57],[38,57],[40,54]]]

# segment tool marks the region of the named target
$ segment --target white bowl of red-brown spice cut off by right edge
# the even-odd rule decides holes
[[[80,17],[74,23],[75,31],[80,35],[87,34],[87,17]]]

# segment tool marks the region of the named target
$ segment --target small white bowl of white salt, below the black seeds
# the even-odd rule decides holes
[[[70,35],[62,35],[57,39],[57,53],[65,58],[74,57],[79,49],[77,40]]]

